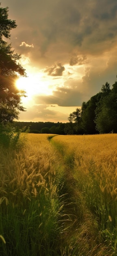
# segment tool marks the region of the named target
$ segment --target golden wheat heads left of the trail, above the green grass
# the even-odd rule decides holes
[[[14,150],[0,150],[0,202],[9,196],[22,195],[28,197],[37,195],[37,190],[44,187],[48,190],[45,176],[55,175],[55,150],[49,144],[47,135],[26,134],[25,144],[17,153]],[[53,163],[53,166],[52,166]],[[50,184],[49,184],[50,186]],[[8,191],[9,190],[9,194]]]

